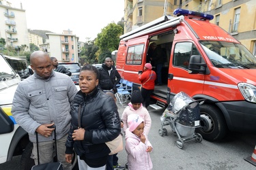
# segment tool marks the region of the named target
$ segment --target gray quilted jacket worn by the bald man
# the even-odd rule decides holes
[[[68,134],[70,129],[70,103],[76,95],[77,88],[68,75],[52,71],[48,80],[34,73],[18,84],[12,115],[27,133],[32,142],[35,130],[41,124],[55,123],[57,140]],[[51,137],[38,134],[39,141],[51,141]]]

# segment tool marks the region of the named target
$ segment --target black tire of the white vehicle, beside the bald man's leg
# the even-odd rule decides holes
[[[23,151],[23,155],[20,158],[20,170],[30,170],[35,162],[30,158],[33,149],[33,143],[29,142]]]

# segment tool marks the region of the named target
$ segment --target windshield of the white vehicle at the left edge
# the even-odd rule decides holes
[[[8,80],[10,78],[15,78],[15,72],[13,69],[8,65],[8,63],[5,61],[3,56],[0,55],[0,82]]]

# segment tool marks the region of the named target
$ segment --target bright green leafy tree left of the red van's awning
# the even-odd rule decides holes
[[[119,24],[111,22],[102,29],[101,33],[98,33],[95,44],[99,47],[98,59],[101,60],[100,56],[102,53],[112,52],[117,50],[119,46],[119,36],[122,35],[123,28]]]

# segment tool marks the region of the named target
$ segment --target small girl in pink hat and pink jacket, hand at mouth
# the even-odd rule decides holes
[[[128,154],[129,170],[151,170],[153,169],[150,152],[152,145],[143,134],[144,122],[137,114],[128,116],[129,128],[126,129],[126,153]]]

